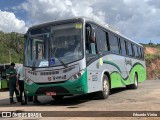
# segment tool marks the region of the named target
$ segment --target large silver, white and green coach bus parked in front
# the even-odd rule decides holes
[[[137,89],[146,79],[143,46],[89,18],[30,27],[24,55],[28,96],[96,93],[105,99],[113,88]]]

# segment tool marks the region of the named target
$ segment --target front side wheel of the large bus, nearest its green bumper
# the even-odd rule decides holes
[[[98,97],[100,99],[106,99],[108,98],[110,94],[110,83],[107,75],[103,75],[103,90],[98,92]]]

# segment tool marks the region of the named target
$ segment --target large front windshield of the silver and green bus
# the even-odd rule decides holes
[[[83,58],[82,24],[72,23],[37,28],[25,46],[25,65],[30,67],[65,66]]]

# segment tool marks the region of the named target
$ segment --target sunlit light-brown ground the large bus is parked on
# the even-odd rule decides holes
[[[10,105],[8,96],[8,91],[0,92],[0,111],[160,111],[160,80],[146,80],[137,90],[113,89],[105,100],[92,94],[66,97],[60,102],[50,96],[40,96],[40,104],[29,102],[22,106]]]

